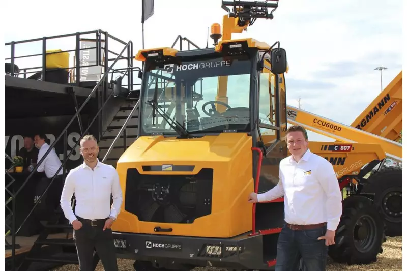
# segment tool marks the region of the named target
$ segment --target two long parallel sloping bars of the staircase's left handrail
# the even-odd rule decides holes
[[[35,171],[38,169],[38,166],[44,161],[45,157],[49,154],[49,152],[51,151],[51,149],[55,146],[55,144],[61,139],[61,137],[67,132],[68,127],[71,125],[71,123],[75,120],[75,118],[77,117],[77,115],[80,113],[80,111],[84,108],[85,104],[90,100],[91,96],[95,93],[96,89],[98,89],[98,87],[100,86],[101,82],[103,82],[103,80],[106,78],[106,76],[108,76],[110,70],[112,70],[113,66],[117,63],[118,59],[120,58],[120,56],[124,53],[124,51],[126,50],[126,48],[131,44],[131,41],[128,42],[126,44],[126,46],[123,48],[122,52],[118,55],[117,58],[114,59],[113,64],[107,69],[107,71],[103,74],[102,78],[99,80],[99,82],[96,84],[96,86],[92,89],[92,92],[89,94],[88,98],[86,98],[86,100],[84,101],[84,103],[82,104],[82,106],[76,111],[75,115],[71,118],[71,121],[67,124],[67,126],[65,127],[65,129],[62,131],[62,133],[59,135],[59,137],[51,144],[51,146],[49,147],[49,149],[47,150],[47,152],[45,153],[45,155],[41,158],[41,160],[37,163],[37,165],[34,167],[34,169],[32,170],[31,174],[27,177],[27,179],[24,181],[24,183],[22,184],[22,186],[20,187],[20,189],[14,194],[14,197],[23,189],[23,187],[26,185],[26,183],[28,182],[28,180],[33,176],[33,174],[35,173]],[[57,172],[59,172],[64,165],[66,164],[66,162],[68,161],[69,157],[72,155],[72,153],[74,152],[76,146],[80,143],[80,140],[83,138],[83,136],[89,131],[89,129],[91,128],[91,126],[93,125],[93,123],[95,122],[96,118],[99,116],[100,112],[104,109],[105,105],[107,104],[107,102],[109,101],[109,99],[113,96],[113,92],[110,93],[110,95],[107,97],[107,99],[105,100],[105,102],[103,103],[103,105],[100,107],[100,109],[98,110],[98,112],[96,113],[95,117],[92,119],[92,122],[89,124],[88,128],[86,128],[86,130],[83,132],[83,134],[80,136],[80,138],[78,139],[78,141],[76,142],[76,144],[72,147],[71,152],[68,154],[68,156],[66,157],[66,159],[64,160],[64,162],[62,163],[62,165],[60,166],[60,168],[57,170]],[[30,215],[33,213],[34,209],[36,208],[36,206],[38,205],[38,203],[41,201],[42,197],[45,195],[45,193],[48,191],[49,187],[52,185],[52,182],[54,182],[54,179],[57,175],[55,174],[51,181],[48,184],[48,187],[45,189],[45,191],[42,193],[42,195],[39,197],[38,201],[35,203],[35,205],[33,206],[33,208],[31,209],[30,213],[28,213],[28,215],[25,217],[24,221],[21,223],[20,227],[18,228],[17,231],[14,231],[13,229],[13,236],[16,235],[19,230],[21,229],[21,227],[24,225],[24,223],[26,222],[26,220],[28,219],[28,217],[30,217]],[[15,201],[15,200],[14,200]],[[13,251],[15,250],[15,246],[13,244]]]

